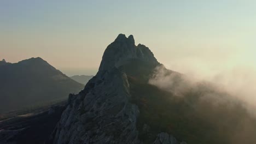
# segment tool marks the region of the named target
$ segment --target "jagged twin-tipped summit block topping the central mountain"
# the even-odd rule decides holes
[[[119,34],[115,41],[108,45],[104,51],[99,70],[118,68],[129,59],[139,59],[154,65],[158,64],[148,47],[141,44],[135,45],[133,35],[127,38],[125,34]]]

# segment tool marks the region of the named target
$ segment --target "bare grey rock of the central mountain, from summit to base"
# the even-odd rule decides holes
[[[126,74],[140,65],[123,68],[131,61],[152,68],[159,65],[148,47],[136,46],[132,35],[119,34],[104,52],[96,76],[79,94],[69,95],[67,109],[53,133],[54,143],[143,143],[136,125],[139,109],[131,103]],[[154,143],[179,143],[166,133],[155,137]]]

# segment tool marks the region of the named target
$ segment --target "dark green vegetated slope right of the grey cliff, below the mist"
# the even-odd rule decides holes
[[[190,144],[235,143],[237,133],[246,134],[247,139],[240,137],[242,140],[255,143],[253,134],[256,130],[243,128],[245,119],[246,127],[256,128],[255,119],[241,104],[215,105],[214,101],[201,101],[208,89],[191,89],[184,97],[177,97],[133,76],[128,77],[131,102],[140,111],[137,122],[139,139],[144,143],[152,143],[161,131]],[[149,126],[148,131],[143,129],[145,124]]]

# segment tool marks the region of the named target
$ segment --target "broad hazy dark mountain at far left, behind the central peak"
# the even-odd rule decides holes
[[[0,113],[65,99],[83,85],[62,74],[42,58],[0,66]]]

